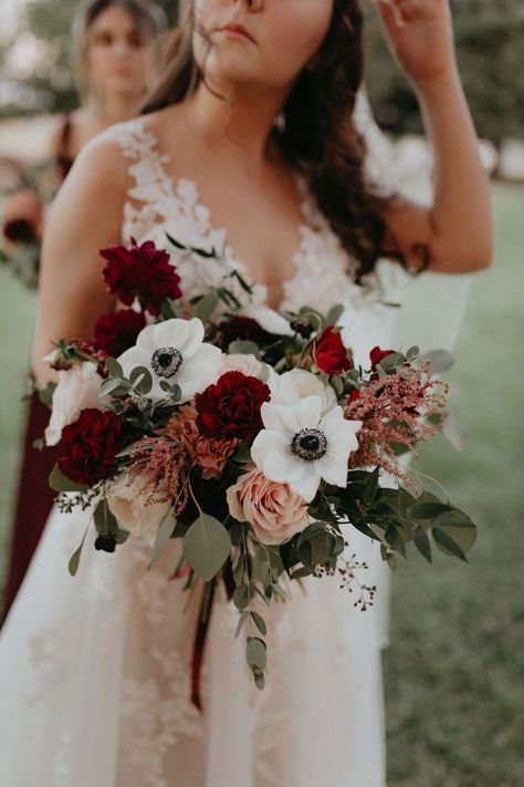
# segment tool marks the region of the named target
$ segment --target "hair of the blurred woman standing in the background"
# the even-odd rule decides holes
[[[74,18],[72,30],[73,70],[82,96],[90,92],[87,54],[91,28],[104,11],[114,6],[123,8],[133,18],[144,42],[153,42],[167,25],[164,10],[150,0],[85,0]]]

